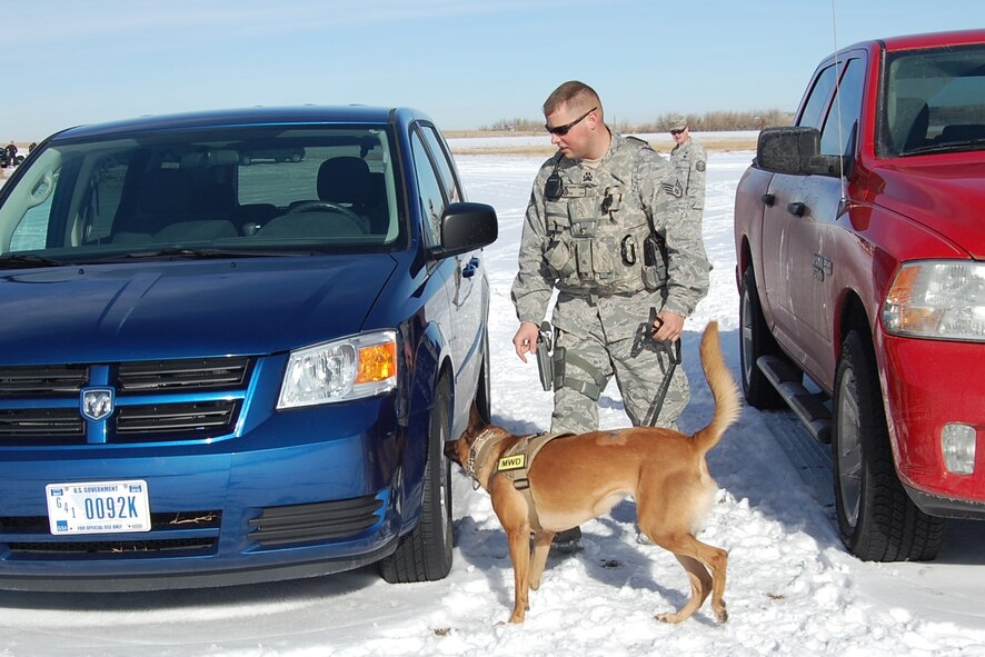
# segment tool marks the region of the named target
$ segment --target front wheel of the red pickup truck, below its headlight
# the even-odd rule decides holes
[[[866,561],[937,556],[944,519],[921,511],[896,475],[870,342],[850,331],[835,375],[835,504],[845,547]]]

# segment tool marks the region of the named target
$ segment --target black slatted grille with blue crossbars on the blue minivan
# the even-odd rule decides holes
[[[202,440],[233,431],[250,358],[0,367],[0,446]],[[82,417],[87,387],[115,390],[115,412]],[[193,398],[193,399],[190,399]]]

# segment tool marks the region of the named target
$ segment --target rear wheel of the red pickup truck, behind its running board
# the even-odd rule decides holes
[[[756,366],[760,356],[778,356],[785,358],[773,335],[766,327],[763,309],[759,306],[759,292],[756,291],[756,275],[752,267],[743,272],[743,289],[739,291],[739,320],[742,335],[739,339],[739,359],[743,372],[743,394],[746,401],[754,408],[784,408],[786,402],[773,384]]]

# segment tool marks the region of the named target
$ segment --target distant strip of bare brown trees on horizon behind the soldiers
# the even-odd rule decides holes
[[[616,120],[615,128],[625,133],[666,132],[670,129],[670,121],[675,112],[660,115],[653,121],[645,123],[630,123]],[[745,112],[714,111],[704,115],[684,115],[687,125],[695,132],[720,132],[724,130],[760,130],[775,126],[789,126],[794,115],[777,109],[754,110]],[[611,123],[611,118],[609,118]],[[530,119],[500,119],[491,126],[480,126],[479,130],[497,130],[508,132],[537,132],[544,130],[543,120]]]

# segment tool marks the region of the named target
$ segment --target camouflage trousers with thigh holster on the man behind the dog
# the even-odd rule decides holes
[[[584,381],[598,379],[599,382],[604,379],[607,385],[615,376],[619,392],[623,395],[626,415],[634,426],[643,425],[659,395],[665,372],[669,369],[668,355],[658,350],[650,340],[643,341],[640,349],[635,338],[607,341],[604,331],[593,330],[590,327],[583,328],[586,329],[585,334],[578,336],[564,330],[557,332],[556,346],[565,349],[565,377]],[[576,358],[570,358],[570,355]],[[597,371],[585,371],[577,364],[578,360],[590,364]],[[599,388],[605,390],[605,385],[600,385]],[[689,399],[687,375],[684,372],[684,367],[678,365],[674,370],[664,405],[650,424],[677,429],[677,418]],[[569,386],[555,390],[554,414],[550,418],[551,431],[583,434],[597,428],[598,402],[595,399]]]

